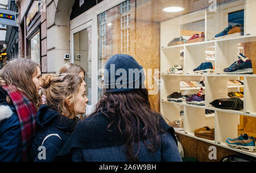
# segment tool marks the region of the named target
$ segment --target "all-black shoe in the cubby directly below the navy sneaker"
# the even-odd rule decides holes
[[[210,103],[213,107],[220,109],[233,109],[233,110],[241,110],[243,109],[243,100],[240,98],[224,98],[224,99],[216,99]]]

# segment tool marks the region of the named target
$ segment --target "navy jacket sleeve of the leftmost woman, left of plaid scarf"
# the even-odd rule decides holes
[[[0,122],[0,162],[20,162],[22,160],[22,138],[18,116]]]

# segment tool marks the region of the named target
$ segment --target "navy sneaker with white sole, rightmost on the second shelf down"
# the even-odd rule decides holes
[[[228,68],[224,69],[224,73],[227,74],[253,74],[253,66],[251,60],[247,59],[245,62],[240,58],[235,61]]]

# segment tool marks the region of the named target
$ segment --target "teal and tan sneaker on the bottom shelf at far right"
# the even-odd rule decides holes
[[[226,144],[233,148],[241,148],[245,151],[255,152],[255,141],[253,137],[249,137],[246,133],[240,134],[235,138],[227,138]]]

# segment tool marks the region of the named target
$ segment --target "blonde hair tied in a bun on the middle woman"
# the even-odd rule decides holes
[[[69,119],[76,119],[76,96],[82,78],[75,74],[47,74],[42,77],[42,87],[50,108]],[[69,106],[65,102],[69,99]]]

